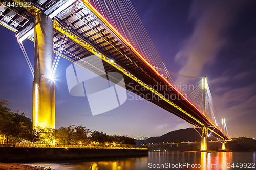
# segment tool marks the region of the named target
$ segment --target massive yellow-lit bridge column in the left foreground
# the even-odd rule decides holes
[[[33,126],[55,128],[55,84],[49,78],[53,64],[53,21],[41,11],[35,16]]]

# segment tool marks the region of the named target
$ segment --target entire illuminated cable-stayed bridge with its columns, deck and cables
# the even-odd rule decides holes
[[[123,75],[127,90],[200,128],[201,150],[207,150],[209,134],[219,138],[225,149],[229,137],[226,126],[217,127],[206,78],[196,90],[180,92],[175,88],[172,72],[130,1],[5,0],[1,1],[0,14],[0,24],[16,33],[34,78],[34,126],[55,127],[55,85],[51,80],[60,57],[82,63],[95,55],[102,60],[105,72]],[[34,67],[22,43],[25,39],[34,41]]]

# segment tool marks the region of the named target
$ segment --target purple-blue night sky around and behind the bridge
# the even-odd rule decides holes
[[[230,137],[256,137],[256,1],[132,1],[169,71],[206,75],[220,118]],[[32,119],[32,81],[15,33],[0,27],[0,99]],[[24,42],[33,63],[34,43]],[[193,127],[127,91],[128,100],[92,116],[88,100],[69,94],[61,58],[56,70],[56,128],[83,125],[107,134],[160,136]],[[176,84],[200,79],[173,77]],[[131,100],[137,98],[137,100]]]

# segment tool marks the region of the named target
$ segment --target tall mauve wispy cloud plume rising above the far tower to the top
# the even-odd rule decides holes
[[[175,56],[175,60],[182,63],[180,74],[202,76],[202,69],[212,64],[227,44],[226,33],[245,4],[245,1],[194,1],[191,4],[189,19],[195,22],[194,30]],[[176,82],[182,80],[178,78]]]

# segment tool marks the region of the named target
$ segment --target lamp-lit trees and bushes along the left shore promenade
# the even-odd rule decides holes
[[[129,136],[108,135],[101,131],[92,131],[79,125],[68,127],[33,127],[31,119],[25,113],[18,114],[8,108],[8,101],[0,100],[0,143],[47,143],[65,145],[94,145],[132,147],[135,139]]]

